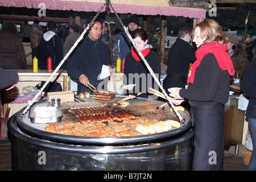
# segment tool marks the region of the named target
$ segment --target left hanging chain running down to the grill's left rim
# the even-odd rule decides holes
[[[73,49],[75,49],[77,44],[79,44],[79,42],[84,38],[85,33],[88,31],[89,27],[92,26],[92,23],[96,20],[97,16],[101,13],[101,11],[102,11],[102,9],[104,8],[105,5],[106,5],[106,3],[104,3],[104,5],[101,7],[101,9],[97,12],[96,16],[94,16],[93,20],[88,24],[88,26],[85,28],[85,30],[82,32],[82,34],[79,36],[79,38],[76,40],[75,44],[71,47],[71,49],[69,49],[68,53],[64,56],[63,60],[61,60],[60,64],[56,67],[55,71],[52,72],[51,76],[49,76],[49,78],[47,79],[45,84],[42,86],[42,88],[39,90],[39,92],[35,95],[35,97],[32,99],[32,101],[28,103],[26,109],[21,114],[22,118],[25,117],[28,109],[30,109],[31,105],[34,104],[36,99],[43,92],[44,88],[46,88],[47,84],[52,79],[52,77],[56,74],[56,72],[59,71],[61,65],[63,65],[65,60],[67,60],[68,56],[73,52]]]

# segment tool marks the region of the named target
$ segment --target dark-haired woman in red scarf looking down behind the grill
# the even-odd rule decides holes
[[[139,28],[133,32],[131,37],[147,63],[150,65],[156,77],[160,78],[160,57],[152,47],[150,39],[148,39],[147,32]],[[133,90],[129,91],[129,94],[133,96],[137,96],[139,92],[142,92],[142,96],[140,97],[148,97],[147,89],[149,87],[158,89],[158,86],[154,86],[156,85],[154,78],[151,76],[143,60],[134,48],[131,48],[131,52],[129,52],[125,57],[123,85],[127,84],[136,84]]]

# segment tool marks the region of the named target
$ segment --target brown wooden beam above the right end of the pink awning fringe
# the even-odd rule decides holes
[[[192,7],[192,8],[202,8],[207,9],[209,6],[209,1],[207,0],[170,0],[168,2],[170,6],[174,7]]]

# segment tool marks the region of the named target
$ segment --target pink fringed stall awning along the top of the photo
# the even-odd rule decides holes
[[[0,0],[0,6],[27,7],[40,9],[43,5],[49,10],[73,10],[97,12],[105,0]],[[188,18],[205,18],[203,9],[170,7],[168,0],[112,0],[114,10],[121,14],[184,16]],[[42,7],[43,7],[42,6]],[[102,10],[105,11],[105,10]],[[113,11],[111,10],[113,13]]]

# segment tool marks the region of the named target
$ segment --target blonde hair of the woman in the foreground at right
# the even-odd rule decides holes
[[[193,36],[196,27],[200,28],[200,38],[205,38],[203,44],[217,41],[224,45],[228,42],[226,34],[222,32],[222,27],[213,19],[204,19],[202,22],[197,23],[192,31]]]

